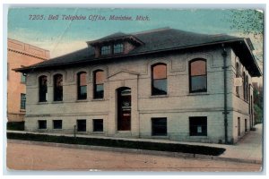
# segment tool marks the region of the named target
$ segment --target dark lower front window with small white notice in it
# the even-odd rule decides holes
[[[205,123],[204,122],[201,122],[201,124],[199,124],[199,126],[201,125],[201,130],[202,132],[193,132],[192,130],[195,128],[195,126],[198,126],[198,124],[191,124],[191,121],[195,121],[195,120],[199,120],[199,118],[201,120],[205,120]],[[205,132],[203,132],[203,124],[205,124]],[[189,116],[188,117],[188,125],[189,125],[189,136],[204,136],[204,137],[207,137],[207,134],[208,134],[208,123],[207,123],[207,116]],[[198,130],[196,128],[196,130]]]

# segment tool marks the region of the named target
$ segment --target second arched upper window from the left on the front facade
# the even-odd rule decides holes
[[[54,101],[63,100],[63,75],[56,74],[53,76]]]

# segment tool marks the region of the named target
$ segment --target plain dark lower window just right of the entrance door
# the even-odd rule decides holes
[[[152,135],[166,136],[167,135],[167,118],[152,118]]]

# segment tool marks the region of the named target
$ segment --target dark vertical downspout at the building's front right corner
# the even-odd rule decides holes
[[[227,115],[228,115],[228,111],[227,111],[227,71],[226,69],[227,67],[227,51],[224,47],[224,44],[222,44],[222,48],[223,51],[221,53],[222,57],[223,57],[223,84],[224,84],[224,136],[225,136],[225,143],[228,143],[228,132],[227,132],[227,128],[228,128],[228,119],[227,119]]]

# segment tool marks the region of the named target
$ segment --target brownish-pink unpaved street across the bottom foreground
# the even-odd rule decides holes
[[[15,170],[259,172],[261,164],[7,143]]]

